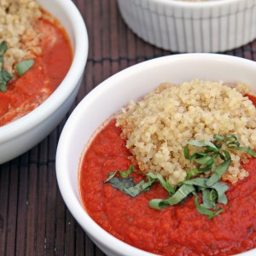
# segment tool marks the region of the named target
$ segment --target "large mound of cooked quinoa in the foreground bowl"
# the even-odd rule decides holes
[[[214,134],[236,134],[241,146],[255,148],[256,109],[244,96],[247,90],[242,83],[230,86],[200,79],[160,84],[143,100],[122,109],[116,125],[140,170],[160,173],[176,185],[196,167],[183,155],[191,139],[212,141]],[[232,163],[223,180],[235,183],[247,177],[241,161],[250,156],[238,150],[230,153]]]

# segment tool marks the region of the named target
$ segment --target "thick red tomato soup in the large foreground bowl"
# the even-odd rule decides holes
[[[133,198],[103,183],[109,172],[131,165],[120,132],[112,119],[90,144],[79,173],[84,208],[104,230],[161,255],[230,255],[256,247],[256,159],[243,166],[248,177],[229,184],[228,204],[215,218],[208,220],[197,212],[193,197],[182,205],[154,210],[148,201],[168,196],[159,184]],[[133,177],[135,183],[142,179]]]

